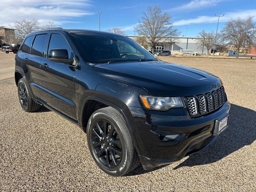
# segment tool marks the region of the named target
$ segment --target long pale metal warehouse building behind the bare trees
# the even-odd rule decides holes
[[[127,36],[134,41],[138,41],[141,36]],[[206,48],[200,47],[198,43],[199,37],[166,37],[158,43],[155,49],[155,53],[170,50],[174,52],[198,52],[200,54],[207,54]],[[152,51],[151,46],[148,46],[148,50]]]

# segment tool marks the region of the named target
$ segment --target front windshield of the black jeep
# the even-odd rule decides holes
[[[112,34],[74,33],[72,38],[80,45],[90,63],[129,61],[156,61],[146,49],[128,37]]]

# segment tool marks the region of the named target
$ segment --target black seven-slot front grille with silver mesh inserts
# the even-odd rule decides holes
[[[198,116],[219,108],[224,104],[226,98],[224,88],[221,87],[211,93],[186,97],[185,100],[190,116]]]

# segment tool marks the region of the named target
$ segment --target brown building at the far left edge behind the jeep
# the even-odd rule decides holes
[[[14,30],[15,29],[0,26],[0,46],[5,44],[10,45],[16,43]]]

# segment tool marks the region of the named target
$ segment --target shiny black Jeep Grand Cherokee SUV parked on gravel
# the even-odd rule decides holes
[[[15,81],[23,110],[44,105],[80,126],[95,162],[112,176],[178,161],[228,126],[230,103],[218,77],[160,61],[108,32],[28,34]]]

